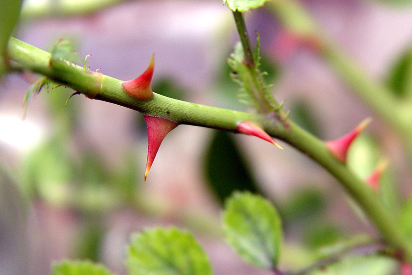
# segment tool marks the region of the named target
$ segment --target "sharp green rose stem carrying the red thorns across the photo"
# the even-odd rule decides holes
[[[252,120],[261,124],[270,136],[294,146],[337,178],[363,208],[383,239],[393,247],[402,250],[405,259],[412,262],[412,243],[399,230],[396,220],[383,208],[373,190],[355,176],[344,163],[335,159],[323,141],[292,121],[286,129],[272,117],[194,104],[156,93],[152,99],[142,101],[129,96],[122,88],[121,80],[90,72],[65,61],[53,62],[53,66],[50,66],[50,53],[13,37],[9,41],[8,54],[10,59],[20,66],[71,87],[86,97],[121,105],[145,115],[163,117],[178,124],[231,132],[237,132],[236,127],[241,121]]]

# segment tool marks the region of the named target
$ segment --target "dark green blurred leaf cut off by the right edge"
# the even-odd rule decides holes
[[[411,0],[407,2],[412,3]],[[412,94],[412,47],[396,60],[389,72],[387,84],[398,97]]]

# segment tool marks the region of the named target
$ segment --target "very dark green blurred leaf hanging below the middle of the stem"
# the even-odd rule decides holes
[[[235,190],[259,193],[249,165],[231,133],[214,131],[204,159],[207,183],[220,202]]]

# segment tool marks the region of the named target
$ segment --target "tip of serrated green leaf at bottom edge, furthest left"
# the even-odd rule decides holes
[[[111,275],[106,267],[90,261],[63,261],[55,263],[51,275]]]

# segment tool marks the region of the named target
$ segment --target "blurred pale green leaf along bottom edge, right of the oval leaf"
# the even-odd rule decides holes
[[[309,275],[390,275],[397,262],[383,256],[350,256]]]

